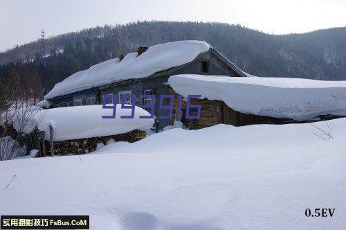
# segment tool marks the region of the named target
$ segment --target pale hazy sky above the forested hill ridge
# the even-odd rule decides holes
[[[345,0],[0,0],[0,51],[47,36],[131,21],[220,21],[266,33],[346,26]]]

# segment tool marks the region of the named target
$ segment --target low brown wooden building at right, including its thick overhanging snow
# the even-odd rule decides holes
[[[168,84],[170,94],[203,98],[191,102],[201,105],[200,118],[178,118],[191,128],[219,123],[235,126],[304,123],[346,116],[346,81],[182,74],[171,76]],[[174,109],[177,107],[174,104]],[[183,112],[185,107],[183,102]]]

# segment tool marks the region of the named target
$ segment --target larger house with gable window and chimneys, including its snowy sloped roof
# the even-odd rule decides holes
[[[166,85],[170,76],[182,73],[201,75],[246,76],[233,63],[201,41],[177,41],[139,47],[135,53],[107,60],[69,76],[44,96],[51,107],[101,104],[105,94],[135,94],[136,105],[150,105],[143,94],[156,95],[155,115],[166,115],[158,109],[158,98],[169,94]],[[109,101],[111,102],[111,101]],[[118,102],[116,102],[118,103]],[[161,119],[158,127],[169,124]]]

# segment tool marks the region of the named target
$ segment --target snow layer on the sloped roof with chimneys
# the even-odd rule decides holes
[[[197,55],[208,51],[210,47],[202,41],[177,41],[150,46],[140,56],[137,56],[137,53],[129,53],[121,62],[115,58],[74,73],[57,83],[44,98],[71,94],[119,80],[145,78],[158,71],[192,62]]]

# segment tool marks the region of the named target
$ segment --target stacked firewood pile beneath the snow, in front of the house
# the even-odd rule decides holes
[[[55,141],[54,142],[54,150],[55,154],[84,154],[87,152],[93,152],[96,150],[96,145],[98,143],[103,143],[106,145],[109,139],[113,139],[114,141],[127,141],[133,143],[135,141],[139,141],[145,136],[147,133],[145,131],[133,130],[131,132],[127,132],[125,134],[116,134],[111,136],[96,136],[85,139],[75,139],[75,140],[67,140],[67,141]],[[46,150],[50,150],[49,141],[45,142]]]

